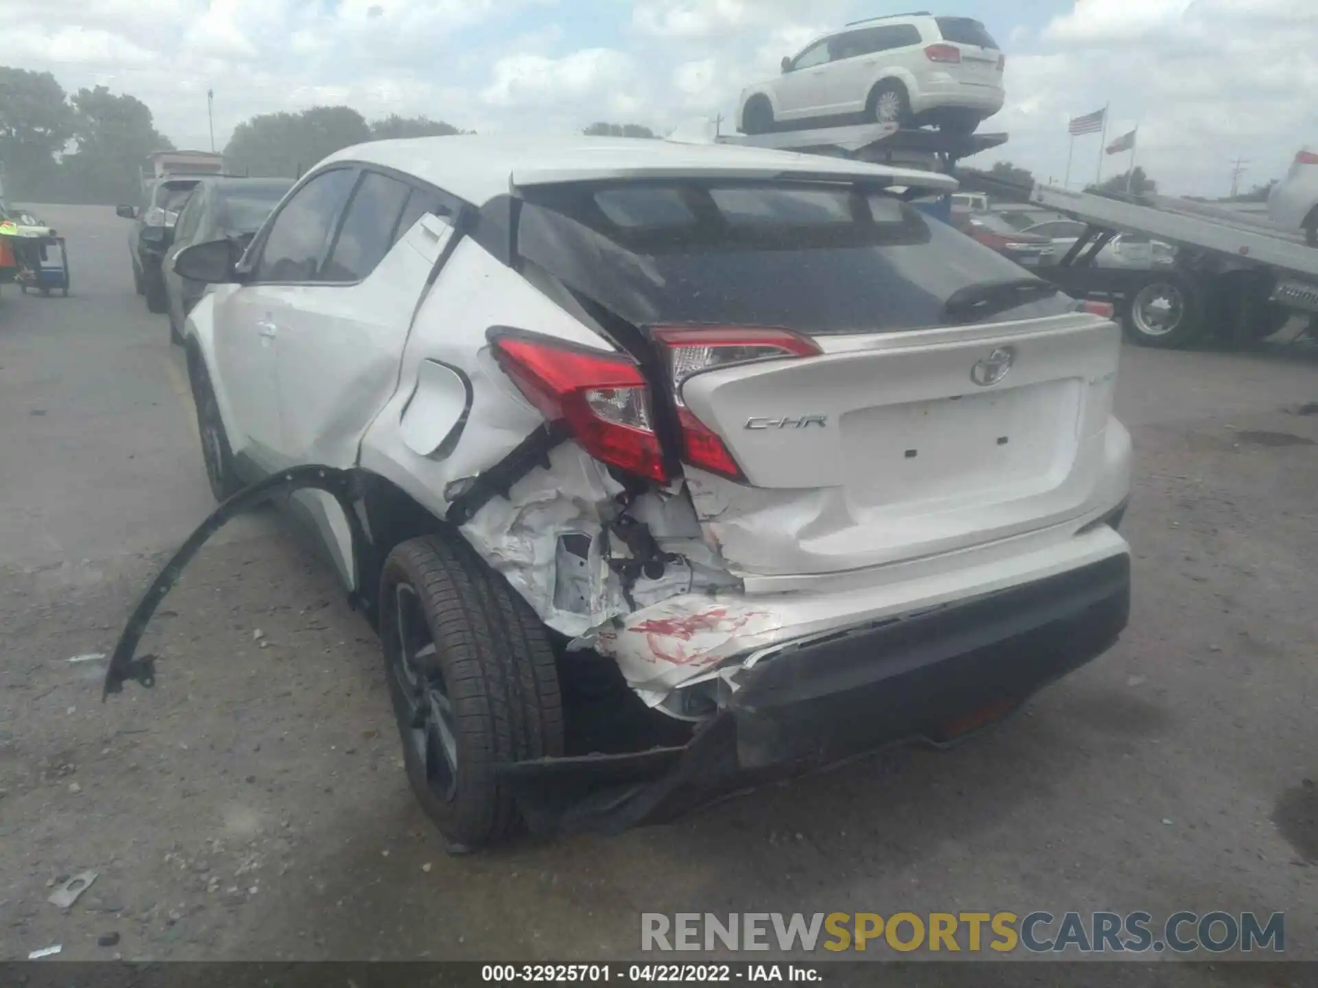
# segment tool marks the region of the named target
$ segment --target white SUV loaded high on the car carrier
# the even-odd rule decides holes
[[[969,17],[928,13],[857,21],[783,58],[782,75],[742,91],[738,126],[859,117],[974,133],[1004,100],[1006,55]]]

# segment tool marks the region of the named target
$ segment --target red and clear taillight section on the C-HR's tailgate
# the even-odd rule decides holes
[[[788,329],[760,327],[660,327],[654,337],[668,354],[670,386],[681,423],[683,462],[734,481],[745,480],[724,440],[687,407],[683,385],[693,374],[734,364],[815,356],[818,345]]]

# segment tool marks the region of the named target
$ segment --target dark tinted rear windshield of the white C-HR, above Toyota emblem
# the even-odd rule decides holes
[[[911,204],[845,184],[608,190],[614,207],[676,195],[695,217],[656,227],[614,223],[600,195],[569,186],[527,190],[518,249],[637,325],[913,329],[954,321],[944,304],[960,288],[1021,278],[1015,263]],[[1070,304],[1045,288],[995,317],[1053,315]]]

